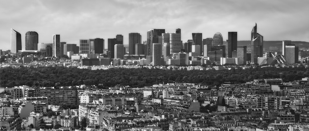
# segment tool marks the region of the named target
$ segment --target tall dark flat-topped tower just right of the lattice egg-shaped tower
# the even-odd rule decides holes
[[[237,32],[228,32],[228,40],[226,40],[226,58],[232,58],[233,51],[237,51]]]

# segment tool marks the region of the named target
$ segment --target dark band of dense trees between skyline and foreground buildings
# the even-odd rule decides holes
[[[54,87],[96,85],[112,87],[115,85],[131,87],[151,86],[152,84],[188,82],[204,85],[219,85],[222,82],[244,83],[259,78],[282,78],[284,82],[299,80],[309,76],[309,69],[297,68],[251,68],[231,70],[162,70],[162,69],[109,69],[88,70],[56,67],[1,68],[0,86],[14,87]]]

